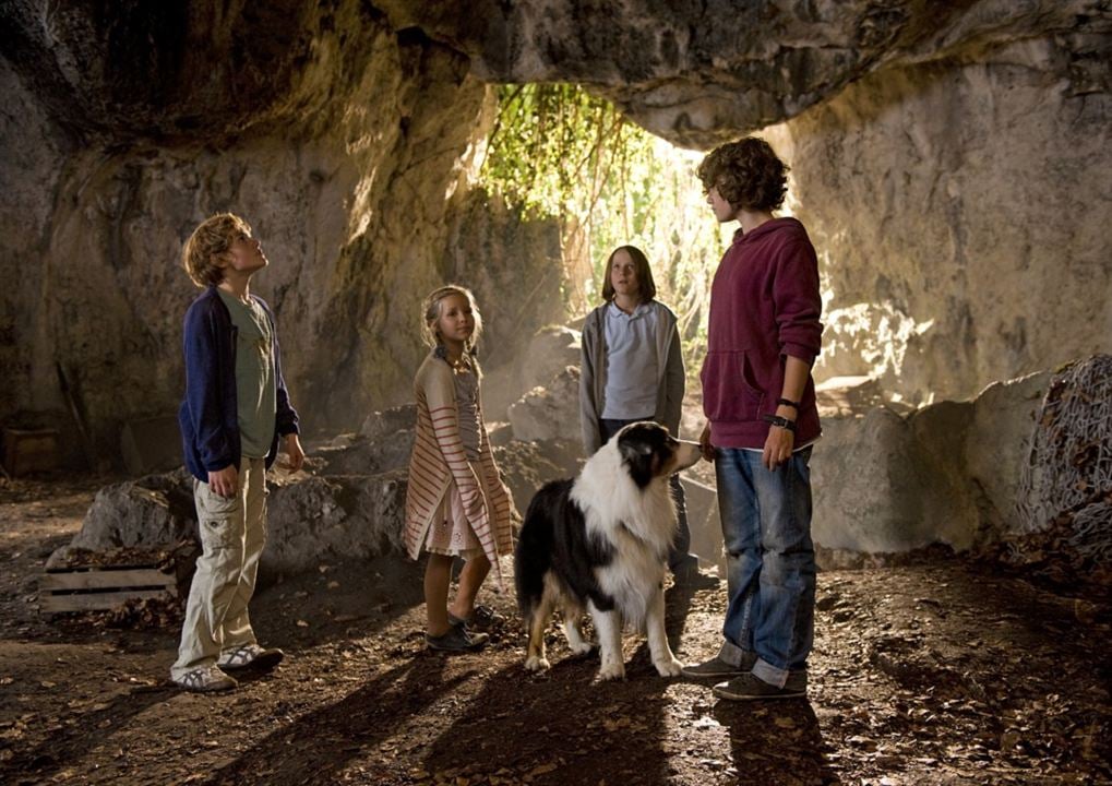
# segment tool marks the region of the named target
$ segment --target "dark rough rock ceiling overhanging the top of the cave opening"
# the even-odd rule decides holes
[[[355,6],[357,12],[340,13]],[[1068,33],[1099,2],[964,0],[378,0],[99,3],[10,0],[0,46],[79,135],[218,140],[289,123],[345,93],[367,39],[327,83],[315,41],[389,24],[454,49],[489,82],[579,82],[687,147],[794,117],[878,69]],[[349,10],[349,9],[348,9]]]

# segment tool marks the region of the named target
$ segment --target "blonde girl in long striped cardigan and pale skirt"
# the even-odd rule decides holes
[[[425,299],[423,336],[433,351],[417,371],[417,435],[406,493],[406,550],[428,551],[425,607],[429,648],[483,647],[497,615],[475,598],[492,566],[504,586],[498,557],[512,554],[513,501],[498,474],[483,424],[475,342],[483,319],[475,297],[449,285]],[[451,564],[466,560],[448,604]]]

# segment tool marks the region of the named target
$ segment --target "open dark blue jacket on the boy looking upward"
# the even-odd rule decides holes
[[[278,437],[297,434],[297,412],[289,404],[286,380],[278,357],[278,331],[275,318],[262,298],[251,298],[262,306],[270,320],[275,358],[275,436],[267,452],[267,467],[278,456]],[[186,399],[178,410],[186,467],[201,482],[208,474],[239,466],[242,449],[236,399],[236,338],[228,307],[216,287],[205,290],[186,311]]]

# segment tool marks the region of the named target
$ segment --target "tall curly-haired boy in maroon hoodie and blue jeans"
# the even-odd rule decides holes
[[[713,150],[698,168],[719,222],[741,229],[711,289],[699,439],[714,461],[729,606],[718,655],[688,666],[725,699],[806,695],[814,637],[811,366],[823,326],[818,263],[794,218],[775,218],[787,167],[763,139]],[[721,680],[721,681],[719,681]]]

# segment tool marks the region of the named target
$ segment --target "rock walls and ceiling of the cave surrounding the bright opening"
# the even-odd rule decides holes
[[[175,260],[226,209],[268,249],[252,289],[311,430],[410,398],[446,278],[507,367],[563,316],[559,232],[471,190],[485,80],[585,83],[692,147],[766,129],[830,295],[820,381],[921,405],[1106,349],[1100,2],[189,8],[0,6],[0,419],[70,428],[59,365],[101,457],[123,420],[171,414],[195,295]]]

